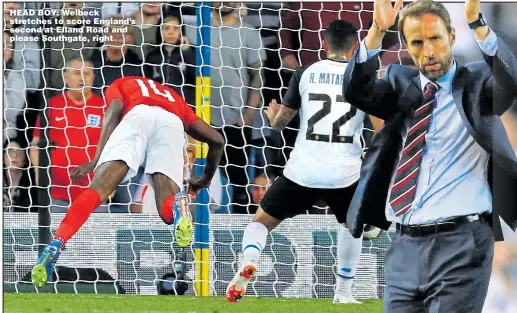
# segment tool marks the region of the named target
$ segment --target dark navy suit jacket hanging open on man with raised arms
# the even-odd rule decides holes
[[[361,178],[347,215],[352,235],[361,236],[363,225],[387,230],[385,208],[403,138],[404,120],[422,102],[419,71],[390,65],[382,79],[376,79],[377,56],[357,63],[356,50],[343,82],[345,99],[358,109],[385,121],[365,155]],[[517,99],[517,60],[498,38],[495,56],[463,66],[457,62],[453,97],[467,131],[489,154],[487,176],[493,196],[493,213],[488,217],[496,240],[503,240],[499,216],[510,226],[517,221],[517,159],[500,119]]]

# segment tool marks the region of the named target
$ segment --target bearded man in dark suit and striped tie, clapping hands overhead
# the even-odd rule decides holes
[[[517,60],[479,0],[465,15],[485,62],[461,65],[447,9],[417,0],[398,28],[417,69],[377,54],[402,1],[376,0],[374,23],[346,69],[345,99],[385,120],[365,156],[347,224],[397,233],[386,254],[385,312],[481,312],[500,218],[517,220],[517,160],[499,116],[517,98]]]

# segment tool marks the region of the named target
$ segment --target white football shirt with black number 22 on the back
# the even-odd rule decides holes
[[[284,176],[299,185],[335,189],[359,179],[365,113],[343,97],[346,66],[318,61],[289,82],[282,104],[299,110],[300,131]]]

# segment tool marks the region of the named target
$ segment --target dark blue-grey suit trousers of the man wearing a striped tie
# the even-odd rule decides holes
[[[410,237],[398,232],[385,260],[385,313],[480,313],[494,236],[484,220]]]

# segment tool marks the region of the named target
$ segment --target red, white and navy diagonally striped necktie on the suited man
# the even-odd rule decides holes
[[[413,113],[404,149],[395,172],[395,180],[391,188],[390,205],[396,216],[406,213],[416,194],[416,184],[422,152],[425,146],[425,134],[431,121],[435,107],[435,94],[440,89],[436,83],[429,82],[425,86],[424,100]]]

